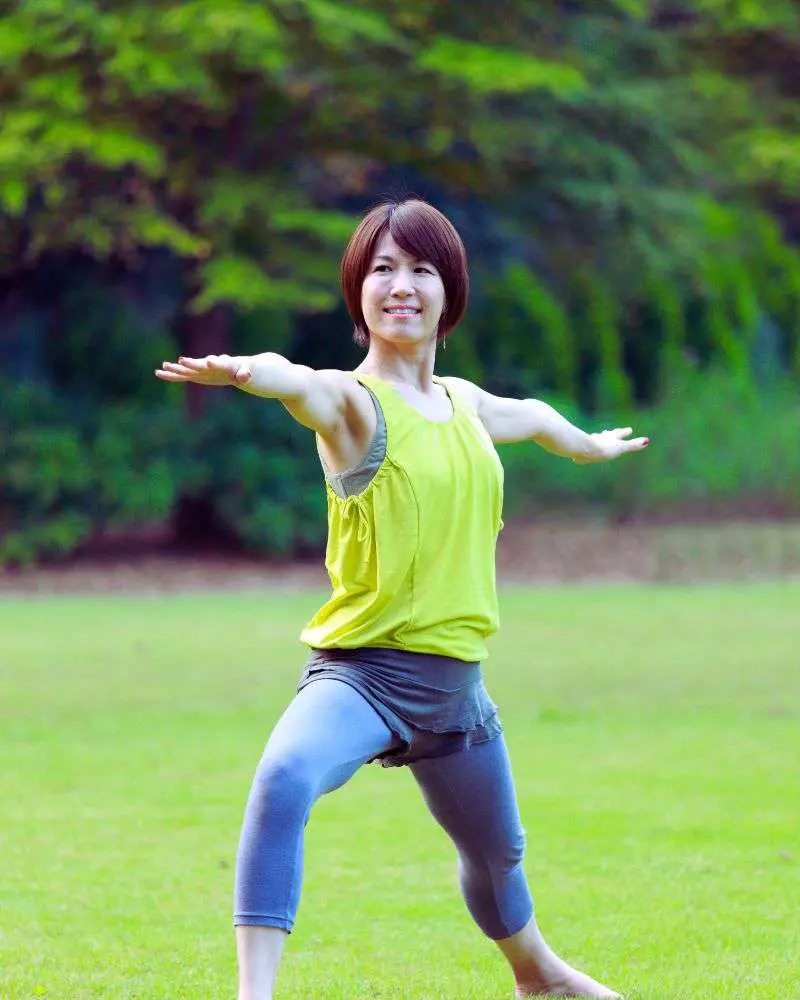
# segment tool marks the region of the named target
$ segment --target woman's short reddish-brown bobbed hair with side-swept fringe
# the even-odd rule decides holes
[[[417,199],[377,205],[367,212],[350,237],[342,257],[341,279],[347,311],[355,324],[353,339],[361,347],[369,344],[369,330],[361,311],[361,286],[375,247],[386,232],[401,250],[417,260],[430,261],[441,275],[444,311],[436,336],[437,340],[444,340],[467,308],[467,253],[452,222],[433,205]]]

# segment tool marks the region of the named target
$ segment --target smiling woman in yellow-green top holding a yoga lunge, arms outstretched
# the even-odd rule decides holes
[[[466,254],[421,201],[369,212],[342,260],[354,372],[277,354],[180,358],[168,382],[278,399],[316,434],[328,495],[332,594],[302,639],[311,657],[271,734],[245,810],[236,872],[239,1000],[268,1000],[299,902],[316,799],[371,760],[411,768],[459,854],[462,891],[517,996],[615,997],[547,946],[522,870],[524,832],[497,712],[481,679],[497,628],[495,442],[533,440],[576,462],[648,444],[586,434],[536,400],[433,374],[464,314]]]

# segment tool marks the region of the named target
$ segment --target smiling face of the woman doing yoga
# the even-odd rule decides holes
[[[371,336],[395,344],[436,338],[444,309],[444,284],[433,264],[407,254],[384,233],[364,284],[361,311]]]

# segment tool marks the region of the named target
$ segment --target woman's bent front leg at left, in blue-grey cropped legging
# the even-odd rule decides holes
[[[342,681],[307,685],[275,726],[256,769],[236,861],[239,1000],[269,1000],[303,877],[303,833],[314,802],[396,743]]]

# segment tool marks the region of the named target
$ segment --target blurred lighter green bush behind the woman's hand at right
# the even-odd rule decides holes
[[[508,514],[592,508],[615,518],[800,513],[800,409],[796,389],[759,388],[725,369],[684,364],[658,406],[582,417],[589,430],[633,426],[652,446],[642,455],[576,466],[524,445],[500,449]]]

